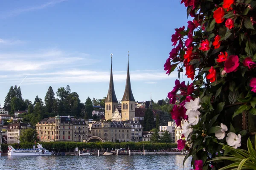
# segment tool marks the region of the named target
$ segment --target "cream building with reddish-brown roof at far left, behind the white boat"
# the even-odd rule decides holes
[[[26,129],[25,123],[12,123],[8,125],[7,129],[7,143],[18,143],[20,138],[20,131]]]

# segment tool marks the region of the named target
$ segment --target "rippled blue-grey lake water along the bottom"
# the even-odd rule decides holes
[[[2,156],[1,170],[182,170],[182,155]],[[191,158],[184,164],[190,169]]]

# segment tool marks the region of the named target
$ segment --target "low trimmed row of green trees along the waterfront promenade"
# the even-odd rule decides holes
[[[35,143],[20,143],[20,148],[33,148]],[[107,150],[115,148],[125,148],[130,150],[171,150],[172,148],[177,148],[176,143],[151,143],[151,142],[40,142],[44,148],[49,151],[61,151],[61,152],[73,152],[76,147],[80,150],[82,149],[92,149],[92,150]],[[8,145],[12,145],[14,148],[18,148],[18,144],[1,144],[2,150],[6,152]]]

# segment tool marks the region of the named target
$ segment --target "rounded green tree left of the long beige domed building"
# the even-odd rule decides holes
[[[20,142],[37,142],[38,133],[33,128],[20,130]]]

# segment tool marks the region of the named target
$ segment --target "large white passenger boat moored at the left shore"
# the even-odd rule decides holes
[[[38,148],[33,149],[15,149],[11,145],[8,146],[8,156],[49,156],[52,155],[49,150],[46,150],[42,147],[41,144],[38,144]]]

